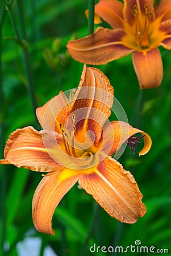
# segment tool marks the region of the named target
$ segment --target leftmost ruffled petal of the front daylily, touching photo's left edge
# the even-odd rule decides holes
[[[17,167],[39,172],[52,172],[59,169],[59,164],[53,161],[44,147],[43,133],[45,135],[48,132],[36,131],[31,126],[11,133],[6,142],[5,160],[0,160],[0,164],[14,164]],[[50,141],[48,146],[53,146]]]

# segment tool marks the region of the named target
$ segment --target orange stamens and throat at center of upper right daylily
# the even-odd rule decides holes
[[[140,6],[134,5],[132,14],[135,17],[135,42],[141,48],[148,48],[152,11],[148,11],[147,4],[144,5],[144,12],[145,15],[141,12]]]

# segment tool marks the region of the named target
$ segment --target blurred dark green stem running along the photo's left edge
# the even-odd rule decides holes
[[[3,9],[2,16],[0,20],[0,158],[3,158],[3,148],[5,145],[5,127],[3,123],[3,90],[2,90],[2,60],[1,60],[1,49],[2,49],[2,25],[5,20],[6,10]],[[6,237],[6,170],[5,166],[1,166],[2,176],[1,176],[1,220],[2,220],[2,243],[1,248],[2,252],[0,253],[2,256],[5,255],[4,245],[5,245],[5,237]]]

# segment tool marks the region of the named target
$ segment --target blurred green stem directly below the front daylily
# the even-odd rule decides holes
[[[89,246],[89,241],[90,241],[90,238],[91,238],[92,233],[94,231],[95,222],[97,221],[98,212],[99,212],[99,205],[96,203],[95,206],[94,206],[94,214],[93,214],[93,218],[92,218],[92,221],[91,221],[91,226],[90,226],[89,232],[87,233],[87,237],[86,237],[86,240],[84,242],[84,246],[82,248],[80,256],[86,255],[87,247]]]

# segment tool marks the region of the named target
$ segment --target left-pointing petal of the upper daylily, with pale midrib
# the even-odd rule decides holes
[[[132,49],[122,44],[124,35],[125,32],[122,28],[110,30],[109,28],[99,27],[92,35],[69,41],[67,44],[68,53],[75,60],[82,63],[106,64],[132,52]]]

